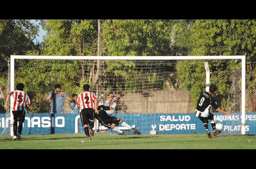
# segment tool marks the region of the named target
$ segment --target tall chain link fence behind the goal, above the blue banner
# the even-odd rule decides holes
[[[0,85],[10,92],[10,55],[152,56],[153,61],[16,60],[15,85],[25,84],[28,113],[50,113],[47,96],[60,84],[69,96],[90,84],[100,104],[117,103],[116,113],[194,113],[205,90],[204,62],[223,109],[241,111],[241,63],[236,60],[160,61],[157,56],[246,55],[246,112],[255,112],[255,20],[27,20],[0,22]],[[30,26],[30,27],[29,27]],[[230,90],[232,89],[232,91]],[[237,94],[235,94],[237,93]],[[234,103],[234,100],[237,100]],[[239,102],[240,101],[240,102]],[[64,100],[70,113],[73,100]],[[1,100],[0,111],[4,100]],[[215,110],[213,110],[215,111]]]

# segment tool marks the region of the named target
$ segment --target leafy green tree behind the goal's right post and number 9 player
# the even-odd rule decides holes
[[[255,73],[252,71],[255,68],[255,64],[252,63],[256,47],[255,26],[255,20],[195,20],[187,28],[178,30],[177,41],[182,44],[181,40],[188,39],[186,45],[190,49],[189,55],[246,55],[247,61],[250,61],[247,64],[249,75],[246,78],[252,79],[252,83],[248,85],[248,88],[252,88],[255,82]],[[220,98],[225,98],[232,81],[231,76],[226,75],[230,71],[239,69],[239,64],[227,60],[208,62],[210,70],[212,70],[211,83],[218,86],[217,95]],[[179,78],[183,79],[180,81],[181,87],[194,91],[191,93],[191,97],[196,102],[199,97],[198,93],[205,87],[203,83],[205,77],[197,77],[193,73],[200,74],[200,71],[194,70],[203,69],[204,63],[202,61],[192,66],[185,66],[189,64],[186,61],[179,62],[177,71]],[[185,72],[189,72],[189,76]],[[198,78],[201,78],[202,81],[191,83]],[[223,107],[226,102],[226,99],[222,99]]]

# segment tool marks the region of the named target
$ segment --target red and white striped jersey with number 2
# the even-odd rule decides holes
[[[83,110],[84,108],[94,109],[94,99],[96,99],[96,96],[92,92],[83,92],[79,94],[77,104],[80,104],[80,110]]]

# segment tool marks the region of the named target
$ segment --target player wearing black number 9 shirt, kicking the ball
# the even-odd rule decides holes
[[[196,106],[196,116],[199,117],[199,119],[204,123],[204,128],[206,129],[207,135],[209,138],[212,138],[211,132],[208,129],[208,120],[211,120],[212,124],[212,130],[213,135],[217,136],[220,134],[220,130],[216,131],[216,125],[213,118],[213,114],[210,112],[210,106],[212,105],[214,109],[216,109],[220,113],[224,113],[227,115],[230,115],[230,112],[225,112],[220,109],[220,107],[217,105],[217,102],[215,101],[215,98],[212,96],[212,94],[217,90],[217,86],[211,85],[209,92],[203,92],[198,101]]]

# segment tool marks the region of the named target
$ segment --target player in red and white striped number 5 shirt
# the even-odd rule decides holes
[[[19,83],[16,85],[16,90],[7,94],[4,108],[7,109],[7,103],[12,96],[13,103],[11,103],[12,114],[13,114],[13,139],[12,140],[21,140],[21,132],[23,127],[23,122],[25,121],[26,108],[30,105],[30,100],[28,94],[23,91],[24,84]],[[19,127],[18,127],[19,121]],[[18,134],[17,134],[18,127]]]

